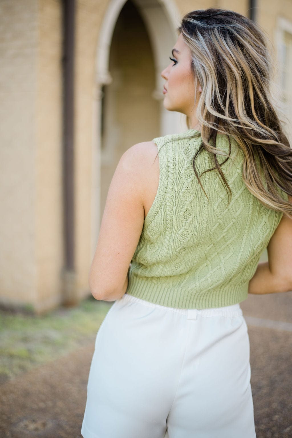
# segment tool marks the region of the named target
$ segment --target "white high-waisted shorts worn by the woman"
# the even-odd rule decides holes
[[[96,336],[83,438],[255,438],[240,304],[177,309],[125,294]]]

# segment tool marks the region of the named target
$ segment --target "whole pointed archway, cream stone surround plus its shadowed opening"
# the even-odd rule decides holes
[[[161,71],[177,39],[171,2],[114,0],[101,26],[96,58],[92,254],[111,178],[122,153],[141,141],[185,129],[163,107]]]

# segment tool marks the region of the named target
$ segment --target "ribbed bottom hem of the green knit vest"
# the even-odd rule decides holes
[[[248,283],[230,285],[229,287],[193,292],[171,289],[165,285],[156,285],[151,279],[129,276],[127,293],[161,306],[179,309],[210,309],[231,306],[240,303],[248,297]]]

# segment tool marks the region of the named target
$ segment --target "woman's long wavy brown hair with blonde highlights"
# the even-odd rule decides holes
[[[220,168],[230,157],[229,137],[229,155],[214,146],[217,134],[227,134],[243,151],[248,190],[292,219],[292,203],[277,189],[292,196],[292,149],[272,103],[272,62],[264,31],[237,12],[208,8],[185,14],[177,32],[191,50],[195,90],[198,83],[202,87],[197,107],[202,142],[193,159],[199,184],[195,159],[205,148],[215,164],[205,172],[219,172],[230,202],[232,192]],[[187,126],[191,129],[188,117]],[[218,153],[227,156],[220,165]]]

